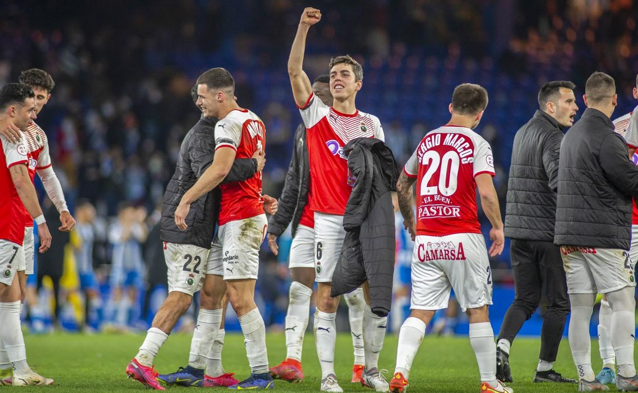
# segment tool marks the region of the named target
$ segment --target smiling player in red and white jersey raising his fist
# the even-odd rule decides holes
[[[339,297],[331,298],[332,273],[345,238],[343,215],[352,187],[348,185],[348,161],[343,146],[360,137],[383,140],[379,119],[355,107],[355,97],[363,83],[363,69],[352,57],[339,56],[330,61],[330,93],[332,107],[316,99],[306,73],[302,69],[306,36],[311,25],[321,20],[316,8],[306,8],[301,15],[297,35],[290,50],[288,75],[295,103],[306,125],[310,161],[310,210],[315,219],[315,271],[317,301],[315,341],[322,368],[321,390],[343,392],[334,373],[336,311]],[[365,287],[366,285],[364,285]],[[361,383],[385,392],[388,383],[379,373],[378,359],[387,317],[375,315],[366,305],[363,316],[365,369]]]

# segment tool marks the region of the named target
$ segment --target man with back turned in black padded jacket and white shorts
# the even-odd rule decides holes
[[[618,362],[616,390],[638,391],[634,366],[635,275],[631,243],[632,197],[638,167],[614,131],[616,83],[593,73],[585,83],[587,110],[563,139],[558,167],[554,244],[561,247],[571,316],[569,346],[578,390],[609,390],[591,368],[591,313],[596,294],[612,310],[611,345]]]

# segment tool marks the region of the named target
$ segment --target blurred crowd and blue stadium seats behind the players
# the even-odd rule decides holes
[[[76,217],[83,214],[78,206],[94,211],[87,215],[102,296],[93,298],[113,299],[100,306],[102,320],[135,325],[152,308],[148,289],[165,271],[161,253],[152,248],[159,243],[153,232],[156,207],[181,140],[200,117],[189,93],[205,69],[227,68],[237,83],[238,103],[262,117],[269,141],[263,189],[279,196],[300,122],[286,59],[306,5],[293,0],[6,3],[0,17],[0,84],[15,82],[21,70],[34,67],[56,81],[36,122],[47,132],[71,211]],[[631,97],[638,69],[634,0],[324,0],[312,5],[322,9],[323,18],[308,38],[307,71],[311,78],[325,73],[336,54],[350,53],[362,62],[358,106],[378,115],[399,165],[429,129],[447,121],[454,86],[486,87],[490,103],[477,131],[493,146],[503,209],[512,139],[537,108],[540,85],[572,80],[579,96],[586,76],[600,70],[616,78],[615,115],[636,104]],[[584,104],[577,103],[582,113]],[[51,251],[42,255],[43,271],[49,264],[68,266],[64,260],[73,254],[68,248],[76,247],[74,236],[54,238],[61,248],[55,255],[63,257]],[[281,290],[260,296],[274,310],[271,322],[278,323],[276,310],[285,310],[281,304],[287,293],[285,261],[278,264],[266,248],[262,255],[265,278],[258,285]],[[492,262],[496,280],[507,281],[507,252]],[[78,288],[80,268],[75,268]],[[47,276],[59,281],[61,271]],[[87,308],[86,313],[97,312]]]

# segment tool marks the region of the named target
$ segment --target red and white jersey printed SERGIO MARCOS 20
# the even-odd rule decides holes
[[[489,143],[466,127],[443,125],[421,139],[403,170],[417,178],[417,234],[480,233],[476,176],[494,176]]]

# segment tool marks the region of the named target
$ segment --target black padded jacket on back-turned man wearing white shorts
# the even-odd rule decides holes
[[[628,250],[633,196],[638,166],[625,139],[607,115],[588,108],[561,145],[554,244]]]

